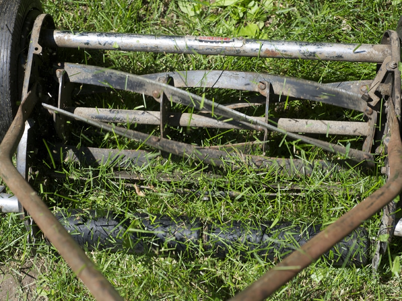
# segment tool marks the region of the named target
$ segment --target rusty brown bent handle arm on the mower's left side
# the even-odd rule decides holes
[[[119,293],[96,269],[12,163],[12,157],[24,131],[25,121],[36,100],[34,87],[20,105],[10,129],[0,144],[0,176],[96,300],[122,300]]]

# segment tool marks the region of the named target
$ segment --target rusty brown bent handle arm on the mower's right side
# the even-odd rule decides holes
[[[402,191],[402,143],[398,120],[391,101],[389,101],[388,107],[388,122],[391,133],[388,144],[388,182],[340,217],[335,223],[316,235],[303,247],[291,253],[247,289],[233,297],[232,301],[263,300],[271,295],[276,289],[293,278],[310,263],[317,260],[343,237],[351,233],[362,222],[399,195]]]

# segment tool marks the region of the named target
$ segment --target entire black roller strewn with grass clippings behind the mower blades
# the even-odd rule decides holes
[[[136,214],[132,220],[113,213],[59,212],[56,217],[74,240],[88,250],[131,253],[180,252],[194,255],[202,247],[204,255],[225,258],[228,254],[243,259],[259,256],[277,262],[317,235],[322,225],[300,226],[291,222],[246,224],[238,221],[203,225],[185,216]],[[360,227],[331,248],[324,256],[334,265],[365,265],[369,239]]]

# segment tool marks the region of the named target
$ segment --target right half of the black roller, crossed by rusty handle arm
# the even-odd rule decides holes
[[[265,261],[276,262],[317,235],[321,224],[302,227],[291,222],[246,225],[241,222],[210,225],[205,245],[212,254],[225,258],[229,253],[248,257],[255,253]],[[369,239],[363,227],[357,228],[337,243],[324,257],[334,265],[365,265],[368,261]]]

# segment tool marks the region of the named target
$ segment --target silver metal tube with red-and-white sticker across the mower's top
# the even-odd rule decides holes
[[[44,30],[48,47],[381,63],[389,45]]]

